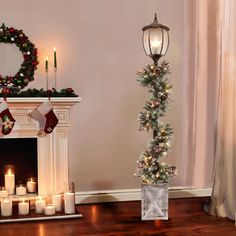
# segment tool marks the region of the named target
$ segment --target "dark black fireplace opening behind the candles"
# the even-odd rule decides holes
[[[26,184],[27,179],[38,178],[37,138],[0,139],[0,185],[4,186],[4,167],[13,165],[15,183]]]

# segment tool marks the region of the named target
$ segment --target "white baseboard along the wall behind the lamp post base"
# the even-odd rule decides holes
[[[211,188],[169,188],[169,198],[189,198],[211,196]],[[95,202],[120,202],[141,200],[140,189],[121,189],[76,192],[76,204]]]

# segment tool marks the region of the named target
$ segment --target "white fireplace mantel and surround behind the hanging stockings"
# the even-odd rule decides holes
[[[16,123],[9,135],[0,136],[4,139],[37,138],[38,193],[40,195],[62,192],[67,188],[70,109],[73,105],[82,101],[79,97],[51,98],[50,101],[59,122],[51,134],[41,137],[38,136],[38,122],[32,119],[29,114],[47,99],[43,97],[8,98],[9,109]]]

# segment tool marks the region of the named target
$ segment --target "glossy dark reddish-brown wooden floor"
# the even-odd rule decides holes
[[[141,221],[140,201],[81,205],[82,219],[0,225],[0,236],[233,236],[234,222],[207,215],[207,198],[172,199],[168,221]]]

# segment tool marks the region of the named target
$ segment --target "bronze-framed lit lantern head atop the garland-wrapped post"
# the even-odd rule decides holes
[[[144,26],[142,30],[144,51],[157,65],[158,60],[166,54],[169,47],[169,28],[158,23],[155,13],[153,23]]]

